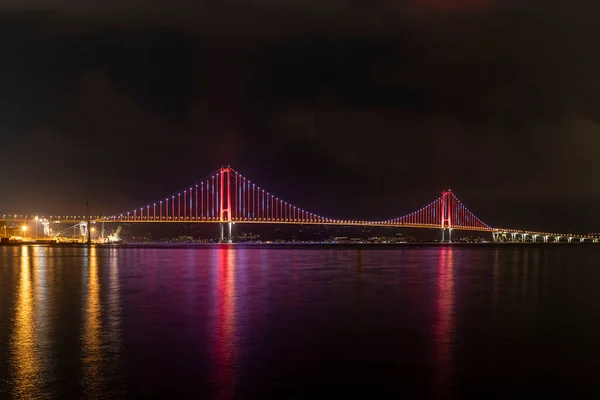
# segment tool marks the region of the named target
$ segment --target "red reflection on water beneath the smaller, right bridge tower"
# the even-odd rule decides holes
[[[452,373],[454,345],[454,271],[452,247],[440,248],[435,321],[436,388],[447,388]]]

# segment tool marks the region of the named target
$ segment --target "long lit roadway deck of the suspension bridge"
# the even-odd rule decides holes
[[[16,224],[29,224],[35,221],[36,217],[39,221],[47,221],[53,224],[80,224],[85,223],[88,217],[84,215],[69,215],[69,216],[48,216],[43,215],[24,215],[24,214],[4,214],[0,217],[0,225],[11,222]],[[100,215],[90,216],[89,220],[92,224],[98,223],[121,223],[121,224],[147,224],[147,223],[171,223],[171,224],[276,224],[276,225],[334,225],[334,226],[361,226],[361,227],[389,227],[389,228],[416,228],[416,229],[442,229],[441,224],[411,224],[411,223],[390,223],[387,221],[359,221],[359,220],[328,220],[327,222],[306,221],[298,219],[271,220],[269,218],[261,219],[235,219],[231,221],[221,221],[217,217],[204,218],[166,218],[162,219],[153,217],[104,217]],[[472,231],[472,232],[489,232],[492,234],[494,242],[539,242],[540,243],[559,243],[561,240],[567,243],[583,243],[593,242],[599,243],[600,236],[573,234],[573,233],[554,233],[540,232],[520,229],[505,229],[505,228],[485,228],[485,227],[470,227],[470,226],[453,226],[452,228],[444,228],[451,231]]]

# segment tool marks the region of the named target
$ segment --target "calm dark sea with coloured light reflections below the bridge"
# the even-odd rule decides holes
[[[599,258],[593,245],[4,246],[0,397],[595,393]]]

